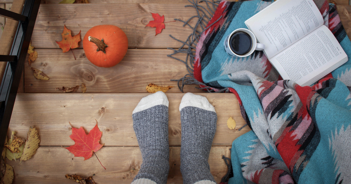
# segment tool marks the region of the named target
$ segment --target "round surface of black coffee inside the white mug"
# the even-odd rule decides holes
[[[229,45],[235,54],[245,55],[252,48],[252,39],[249,34],[239,31],[232,35]]]

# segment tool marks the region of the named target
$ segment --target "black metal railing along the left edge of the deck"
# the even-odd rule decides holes
[[[0,55],[0,62],[6,62],[6,69],[0,86],[0,150],[5,143],[8,124],[31,41],[40,0],[26,0],[22,14],[0,8],[0,16],[19,21],[9,55]]]

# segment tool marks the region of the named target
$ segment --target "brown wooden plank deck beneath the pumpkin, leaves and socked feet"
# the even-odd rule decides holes
[[[38,52],[38,59],[32,67],[42,70],[50,77],[48,81],[34,78],[25,63],[23,80],[20,84],[12,113],[9,131],[16,131],[19,137],[26,137],[30,126],[35,126],[41,138],[37,153],[28,161],[8,161],[14,167],[13,183],[67,183],[66,174],[91,176],[98,184],[131,183],[140,169],[141,152],[133,131],[132,111],[139,100],[148,95],[148,83],[177,86],[171,79],[187,74],[185,65],[167,57],[172,53],[167,47],[177,48],[180,43],[170,38],[173,35],[185,40],[191,29],[181,22],[166,23],[166,29],[155,36],[155,28],[145,25],[153,20],[149,12],[165,15],[165,22],[174,18],[187,20],[196,14],[192,7],[184,8],[187,0],[89,0],[91,4],[58,4],[61,0],[42,0],[32,36],[32,45]],[[351,38],[351,7],[349,0],[335,0],[345,30]],[[12,0],[0,0],[0,8]],[[3,21],[0,19],[0,22]],[[196,22],[191,21],[191,25]],[[128,36],[129,49],[121,63],[111,68],[99,68],[91,64],[80,47],[72,52],[62,53],[55,41],[60,41],[63,25],[75,35],[81,30],[81,38],[95,25],[111,24],[120,27]],[[1,30],[0,30],[1,31]],[[185,54],[177,54],[184,59]],[[72,87],[85,83],[87,91],[62,94],[58,87]],[[238,101],[233,94],[208,94],[186,86],[185,92],[206,96],[218,115],[217,131],[210,152],[210,168],[215,180],[227,172],[222,155],[230,157],[232,141],[249,131],[227,128],[231,116],[236,128],[245,124],[240,115]],[[179,104],[183,94],[172,88],[166,93],[169,106],[170,173],[167,183],[182,183],[180,173],[181,125]],[[80,126],[88,132],[98,121],[103,132],[101,143],[105,145],[92,157],[83,161],[61,146],[73,145],[69,138],[71,129]],[[9,134],[8,134],[9,135]],[[196,169],[196,168],[194,168]]]

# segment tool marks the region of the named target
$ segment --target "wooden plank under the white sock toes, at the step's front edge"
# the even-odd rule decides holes
[[[8,135],[16,132],[26,137],[30,126],[40,135],[41,146],[68,146],[74,142],[68,122],[89,132],[98,121],[102,131],[101,143],[106,146],[138,146],[133,130],[132,111],[149,93],[133,94],[17,94],[9,124]],[[181,125],[179,104],[184,94],[166,93],[169,101],[169,144],[180,146]],[[245,124],[240,115],[238,100],[231,93],[200,93],[207,97],[217,112],[217,131],[212,145],[231,146],[235,138],[250,130],[248,126],[233,132],[227,127],[232,117],[236,128]]]

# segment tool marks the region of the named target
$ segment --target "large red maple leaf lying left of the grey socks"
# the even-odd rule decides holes
[[[75,157],[84,157],[84,160],[86,160],[93,155],[93,152],[97,152],[104,145],[100,144],[101,135],[102,131],[98,128],[98,122],[88,135],[82,127],[79,129],[72,127],[72,135],[69,137],[75,144],[66,149],[73,153]]]

